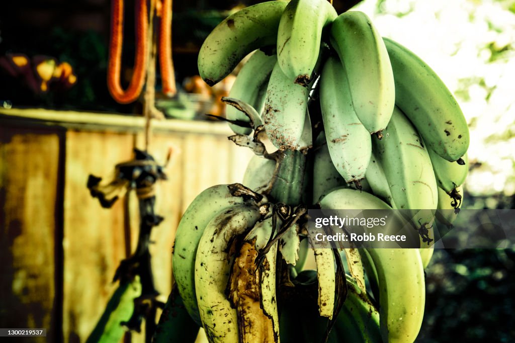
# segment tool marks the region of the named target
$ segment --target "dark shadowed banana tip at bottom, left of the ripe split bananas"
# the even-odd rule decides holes
[[[177,287],[174,287],[164,305],[152,342],[194,343],[199,329],[199,325],[186,311]]]

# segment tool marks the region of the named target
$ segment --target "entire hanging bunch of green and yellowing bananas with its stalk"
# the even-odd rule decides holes
[[[208,188],[180,220],[181,315],[211,343],[414,342],[435,216],[452,225],[468,171],[456,100],[365,13],[325,0],[231,14],[204,41],[199,73],[213,85],[249,54],[222,100],[229,139],[255,156],[243,184]],[[413,227],[420,248],[310,249],[308,209],[404,210],[390,229]],[[310,253],[316,269],[304,270]]]

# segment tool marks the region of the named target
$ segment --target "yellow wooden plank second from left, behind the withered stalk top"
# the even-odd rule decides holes
[[[64,182],[63,334],[84,341],[116,289],[111,282],[126,258],[123,201],[111,209],[90,196],[93,174],[109,180],[114,164],[132,158],[132,136],[99,132],[66,133]],[[128,318],[127,318],[128,319]]]

